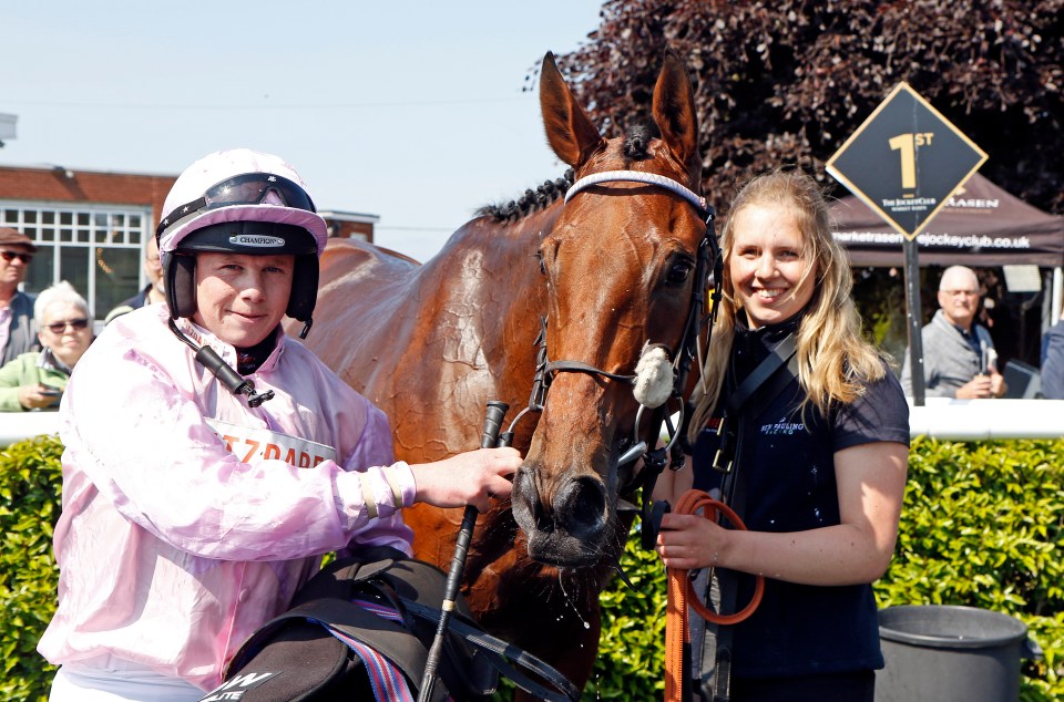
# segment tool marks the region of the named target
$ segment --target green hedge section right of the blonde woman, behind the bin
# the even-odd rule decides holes
[[[1044,650],[1020,699],[1064,699],[1064,441],[918,440],[882,607],[966,605],[1022,620]]]

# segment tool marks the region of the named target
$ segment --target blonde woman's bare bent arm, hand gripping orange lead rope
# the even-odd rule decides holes
[[[722,566],[804,585],[871,582],[898,536],[909,451],[877,442],[835,454],[841,524],[775,534],[724,529],[696,515],[665,515],[658,554],[671,568]]]

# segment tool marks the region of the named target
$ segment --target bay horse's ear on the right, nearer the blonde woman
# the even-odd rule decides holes
[[[673,51],[665,52],[665,64],[654,86],[654,122],[673,156],[684,164],[692,179],[698,179],[702,155],[698,151],[698,116],[695,93],[687,70]]]

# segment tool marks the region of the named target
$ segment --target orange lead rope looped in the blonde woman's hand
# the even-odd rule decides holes
[[[702,491],[687,491],[676,505],[677,514],[697,514],[699,510],[706,519],[719,520],[719,515],[724,515],[737,529],[746,529],[746,525],[730,507]],[[686,569],[668,568],[668,599],[665,605],[665,702],[682,702],[684,644],[690,642],[688,603],[706,621],[737,624],[753,615],[760,605],[761,595],[765,592],[765,576],[757,576],[750,603],[734,615],[718,615],[709,610],[698,599],[694,588],[694,581],[687,577]]]

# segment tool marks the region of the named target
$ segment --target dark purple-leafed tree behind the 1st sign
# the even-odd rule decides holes
[[[614,135],[649,122],[666,48],[696,84],[718,209],[778,165],[832,184],[823,163],[907,81],[990,155],[984,175],[1064,213],[1064,0],[610,0],[559,64]]]

